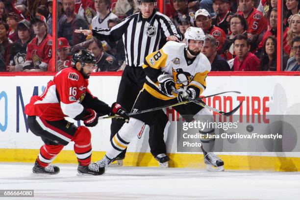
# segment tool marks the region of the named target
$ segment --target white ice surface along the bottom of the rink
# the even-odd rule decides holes
[[[33,189],[34,198],[8,200],[299,200],[300,173],[115,167],[78,176],[57,164],[58,175],[34,175],[32,164],[0,163],[0,189]],[[0,198],[5,199],[5,198]]]

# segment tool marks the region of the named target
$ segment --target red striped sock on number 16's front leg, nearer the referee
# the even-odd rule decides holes
[[[85,126],[77,127],[73,140],[74,151],[77,157],[78,163],[81,166],[87,166],[91,162],[92,157],[92,145],[91,145],[91,132]]]

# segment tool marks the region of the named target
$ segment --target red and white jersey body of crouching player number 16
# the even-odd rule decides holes
[[[48,121],[62,120],[66,116],[75,118],[84,109],[80,102],[86,93],[90,93],[87,86],[88,80],[76,69],[63,69],[48,82],[41,96],[31,97],[25,106],[25,114]]]

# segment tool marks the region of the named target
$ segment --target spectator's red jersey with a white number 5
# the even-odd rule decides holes
[[[243,16],[242,11],[238,11],[237,14]],[[261,12],[256,10],[256,8],[253,8],[252,12],[246,18],[246,21],[248,25],[247,32],[253,35],[258,35],[262,33],[268,27],[266,18]]]

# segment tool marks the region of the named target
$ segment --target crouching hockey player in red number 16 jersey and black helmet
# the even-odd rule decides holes
[[[95,56],[87,50],[78,50],[72,57],[71,68],[58,72],[48,82],[41,96],[33,96],[25,106],[28,126],[45,143],[32,169],[33,173],[57,174],[59,168],[50,165],[56,155],[74,142],[79,174],[101,175],[104,168],[91,163],[91,132],[85,126],[98,124],[102,115],[118,114],[125,119],[129,116],[117,102],[109,107],[94,97],[88,89],[88,78],[96,69]],[[75,126],[65,117],[82,120],[85,126]]]

